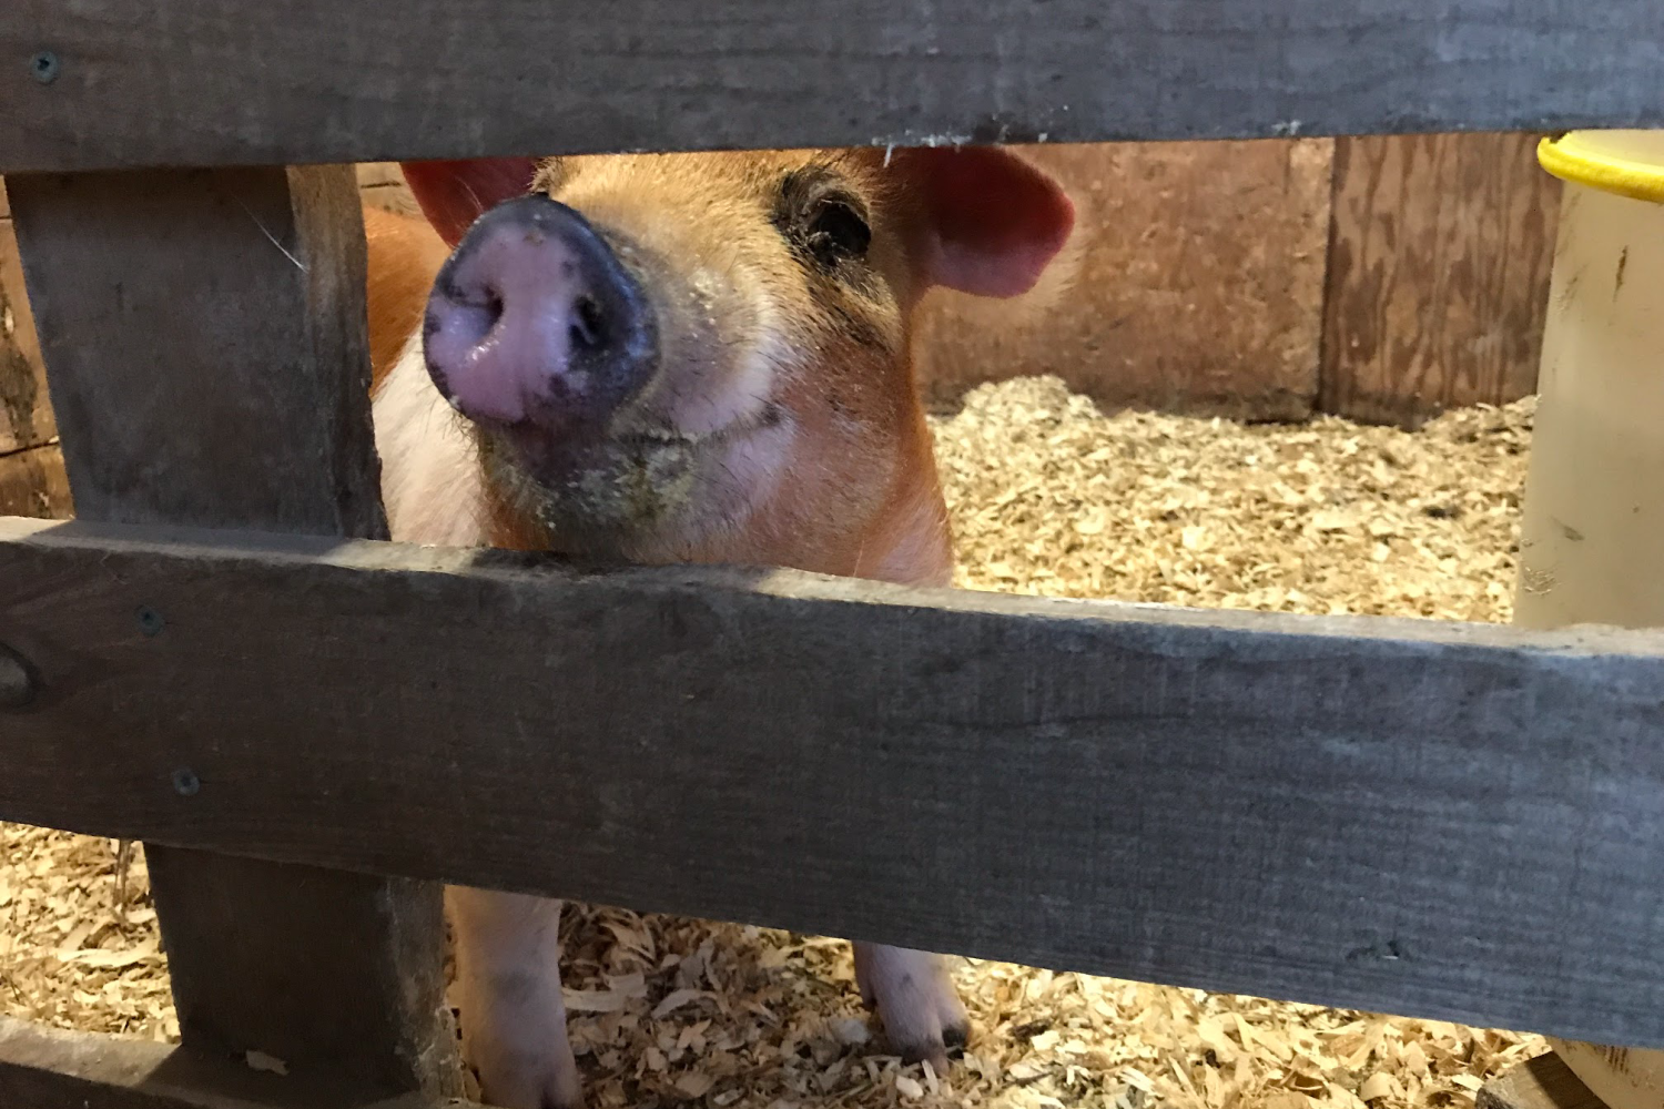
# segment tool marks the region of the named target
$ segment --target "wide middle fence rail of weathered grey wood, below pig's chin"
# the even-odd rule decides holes
[[[3,820],[1664,1042],[1656,635],[0,534]]]

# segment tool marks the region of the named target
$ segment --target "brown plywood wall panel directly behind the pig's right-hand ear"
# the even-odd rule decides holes
[[[1045,372],[1108,407],[1310,416],[1330,148],[1311,140],[1023,150],[1075,200],[1078,273],[1043,304],[934,291],[915,343],[927,402]]]

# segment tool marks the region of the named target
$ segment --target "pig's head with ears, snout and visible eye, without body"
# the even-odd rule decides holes
[[[1053,181],[987,148],[406,176],[454,244],[424,356],[474,429],[499,530],[639,562],[734,559],[744,535],[749,560],[839,572],[912,485],[935,492],[919,298],[1023,293],[1073,223]]]

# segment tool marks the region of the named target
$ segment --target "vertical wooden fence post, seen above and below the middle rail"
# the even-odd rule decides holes
[[[349,168],[8,188],[80,517],[386,535]],[[191,635],[166,612],[135,619],[161,648]],[[180,805],[216,785],[188,765],[156,776]],[[148,856],[188,1047],[388,1094],[453,1091],[438,886]]]

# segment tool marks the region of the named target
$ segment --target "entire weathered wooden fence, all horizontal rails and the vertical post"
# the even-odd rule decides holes
[[[1659,125],[1661,43],[1656,0],[13,0],[80,519],[0,522],[0,818],[146,841],[185,1042],[0,1023],[0,1104],[439,1102],[438,881],[1664,1046],[1664,638],[379,542],[318,165]]]

